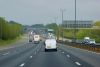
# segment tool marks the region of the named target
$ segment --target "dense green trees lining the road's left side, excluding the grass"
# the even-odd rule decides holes
[[[14,21],[7,21],[0,17],[0,39],[14,39],[22,34],[22,29],[21,24]]]

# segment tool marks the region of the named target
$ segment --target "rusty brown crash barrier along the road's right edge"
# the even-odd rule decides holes
[[[90,51],[94,51],[94,52],[100,52],[100,45],[99,44],[81,44],[81,43],[72,43],[72,42],[67,42],[67,41],[57,41],[58,43],[62,43],[64,45],[68,45],[68,46],[73,46],[73,47],[77,47],[77,48],[81,48],[81,49],[86,49],[86,50],[90,50]]]

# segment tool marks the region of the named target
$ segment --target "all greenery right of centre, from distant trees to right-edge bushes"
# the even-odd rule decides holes
[[[54,29],[54,33],[56,36],[62,37],[62,31],[63,36],[68,39],[73,38],[73,29],[64,29],[60,25],[58,26],[56,23],[48,24],[46,25],[47,28]],[[84,37],[90,37],[91,39],[95,39],[96,42],[100,43],[100,21],[96,21],[93,25],[93,28],[95,29],[78,29],[76,32],[77,39],[83,39]]]

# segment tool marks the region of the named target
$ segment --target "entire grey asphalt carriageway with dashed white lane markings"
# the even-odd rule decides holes
[[[44,51],[44,42],[21,43],[0,50],[0,67],[99,67],[100,54],[58,44],[58,51]]]

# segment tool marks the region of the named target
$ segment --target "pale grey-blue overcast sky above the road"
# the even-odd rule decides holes
[[[76,0],[77,20],[100,20],[100,0]],[[24,25],[74,20],[75,0],[0,0],[0,17]]]

